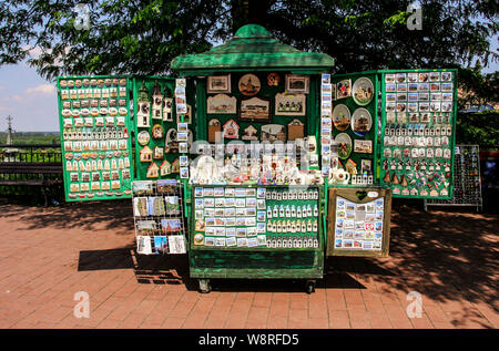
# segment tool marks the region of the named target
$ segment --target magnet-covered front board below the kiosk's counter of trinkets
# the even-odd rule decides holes
[[[320,189],[196,186],[191,249],[318,250]]]

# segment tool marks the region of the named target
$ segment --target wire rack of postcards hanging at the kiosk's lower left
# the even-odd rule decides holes
[[[138,180],[132,183],[132,189],[138,254],[185,254],[182,183],[176,179]]]

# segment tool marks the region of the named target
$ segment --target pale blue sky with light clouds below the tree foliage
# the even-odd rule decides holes
[[[499,37],[491,40],[498,50]],[[495,62],[483,73],[499,71]],[[7,116],[13,117],[16,132],[59,131],[55,83],[41,78],[27,63],[0,66],[0,132],[7,131]]]

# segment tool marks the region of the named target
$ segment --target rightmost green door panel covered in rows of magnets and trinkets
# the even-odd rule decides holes
[[[452,197],[456,110],[456,70],[381,71],[380,183],[394,197]]]

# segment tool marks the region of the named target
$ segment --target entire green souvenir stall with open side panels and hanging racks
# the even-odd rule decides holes
[[[452,197],[456,70],[333,66],[248,24],[177,79],[59,78],[67,200],[131,198],[138,252],[189,252],[203,292],[388,256],[391,197]]]

